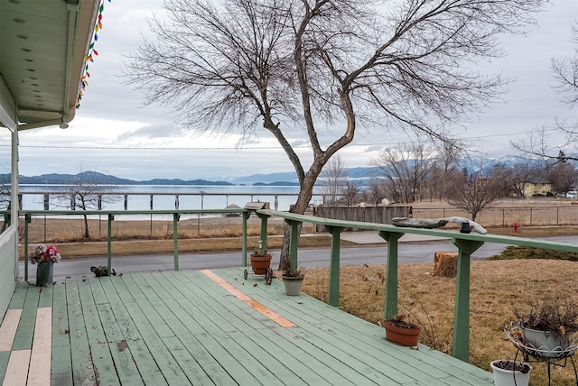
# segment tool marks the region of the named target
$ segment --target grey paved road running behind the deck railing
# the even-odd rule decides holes
[[[552,237],[547,240],[562,241],[578,244],[578,236]],[[485,259],[501,253],[506,246],[502,244],[484,244],[471,255],[472,259]],[[400,243],[398,258],[404,262],[433,262],[433,254],[437,251],[457,252],[457,248],[449,240],[428,240],[416,243]],[[271,266],[277,267],[279,262],[278,251],[271,251],[274,255]],[[329,248],[300,248],[299,266],[303,268],[327,267],[329,265]],[[387,244],[359,244],[343,247],[340,250],[341,265],[385,264],[387,262]],[[64,279],[67,276],[91,276],[90,266],[106,265],[107,257],[90,257],[78,259],[62,259],[54,266],[54,279]],[[241,253],[181,253],[179,268],[181,270],[201,270],[238,267],[241,265]],[[113,256],[113,268],[117,273],[134,273],[144,271],[171,271],[173,269],[172,254],[148,254],[132,256]],[[34,278],[36,267],[29,266],[29,278]],[[23,262],[20,262],[20,276],[23,277]]]

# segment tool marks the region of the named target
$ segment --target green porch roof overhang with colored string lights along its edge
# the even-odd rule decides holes
[[[0,126],[70,122],[100,0],[0,0]]]

